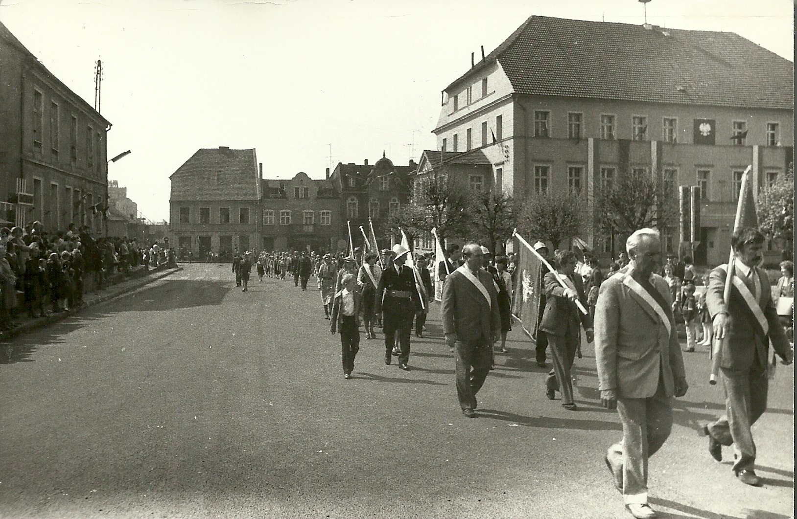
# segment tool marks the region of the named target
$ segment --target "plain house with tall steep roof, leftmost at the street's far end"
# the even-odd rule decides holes
[[[257,153],[203,148],[171,174],[172,247],[180,257],[229,259],[261,244],[261,173]]]

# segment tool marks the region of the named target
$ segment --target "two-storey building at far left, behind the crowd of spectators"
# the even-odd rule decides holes
[[[0,220],[104,232],[108,122],[0,23]]]

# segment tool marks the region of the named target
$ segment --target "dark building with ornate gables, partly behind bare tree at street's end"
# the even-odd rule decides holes
[[[387,217],[409,201],[410,173],[416,167],[413,160],[408,166],[395,166],[384,151],[373,166],[367,159],[363,164],[339,162],[329,178],[340,193],[341,238],[348,240],[347,222],[351,222],[352,240],[361,243],[359,226],[367,230],[370,217],[379,246],[390,246],[394,236]]]

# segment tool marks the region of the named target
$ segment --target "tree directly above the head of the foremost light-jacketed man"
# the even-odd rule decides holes
[[[626,172],[596,189],[595,223],[605,235],[622,239],[641,228],[672,227],[677,222],[676,200],[673,185],[651,178],[646,170]]]

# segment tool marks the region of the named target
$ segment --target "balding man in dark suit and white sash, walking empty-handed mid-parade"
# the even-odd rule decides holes
[[[467,244],[462,252],[465,264],[443,285],[441,312],[446,344],[456,349],[459,406],[462,414],[473,418],[476,393],[485,383],[493,362],[493,342],[501,333],[501,314],[493,276],[481,269],[481,247]]]

